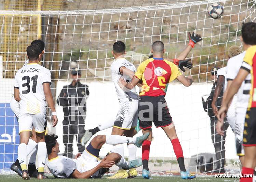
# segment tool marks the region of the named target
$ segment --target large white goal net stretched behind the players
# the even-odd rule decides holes
[[[207,11],[215,2],[224,8],[219,19],[210,18]],[[110,71],[114,42],[125,43],[127,60],[137,67],[151,55],[151,45],[157,40],[165,45],[165,57],[177,58],[188,45],[188,32],[203,38],[187,56],[193,68],[183,72],[185,76],[191,74],[195,82],[188,88],[177,81],[171,82],[165,99],[183,147],[186,168],[204,173],[200,171],[202,166],[212,164],[205,156],[213,158],[216,166],[216,143],[212,142],[210,118],[203,109],[201,97],[207,98],[211,92],[211,69],[226,66],[228,48],[242,47],[242,23],[250,21],[255,21],[254,0],[0,1],[0,170],[9,172],[17,159],[18,123],[10,109],[10,100],[14,76],[24,64],[26,48],[32,40],[45,42],[42,65],[51,72],[55,101],[63,86],[72,82],[71,69],[81,70],[81,83],[88,85],[90,91],[85,119],[87,130],[113,121],[119,108]],[[48,112],[48,132],[59,136],[60,152],[64,153],[64,113],[61,106],[55,104],[55,107],[59,122],[52,128]],[[150,171],[159,175],[180,172],[170,140],[162,129],[154,126],[152,129]],[[97,134],[111,134],[111,131],[109,128]],[[141,131],[137,135],[140,134]],[[230,127],[225,141],[225,169],[239,172],[241,166]],[[77,142],[80,141],[76,137],[70,141],[74,155],[78,152]],[[128,156],[127,146],[124,147]],[[100,156],[110,149],[112,146],[105,144]],[[204,160],[200,161],[202,156]],[[141,157],[141,148],[137,149],[138,157]]]

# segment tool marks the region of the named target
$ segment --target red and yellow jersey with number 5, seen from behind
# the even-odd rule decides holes
[[[142,62],[135,76],[143,81],[140,96],[165,96],[166,84],[181,75],[178,67],[163,58],[150,58]]]

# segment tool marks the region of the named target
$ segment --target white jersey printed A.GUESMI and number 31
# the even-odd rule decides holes
[[[14,88],[19,89],[19,113],[46,114],[46,99],[43,83],[51,84],[51,74],[47,68],[37,63],[23,66],[15,75]]]

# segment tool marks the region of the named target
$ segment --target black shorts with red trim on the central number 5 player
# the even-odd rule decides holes
[[[157,128],[173,123],[164,96],[140,96],[138,113],[139,127],[142,129],[151,128],[152,122]]]

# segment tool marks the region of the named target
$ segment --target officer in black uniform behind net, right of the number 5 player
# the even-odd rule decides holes
[[[203,102],[204,111],[208,113],[208,116],[210,117],[210,121],[211,121],[212,142],[214,145],[215,155],[217,158],[216,166],[214,166],[214,170],[215,170],[214,172],[225,173],[225,170],[224,170],[225,146],[224,146],[224,144],[225,144],[225,138],[226,138],[226,131],[228,129],[228,122],[227,122],[227,119],[225,118],[225,122],[224,122],[224,126],[223,126],[225,135],[224,136],[219,135],[215,129],[215,125],[217,124],[218,119],[214,115],[213,109],[212,109],[212,101],[213,101],[213,97],[214,97],[214,91],[215,91],[215,87],[218,82],[218,80],[217,80],[217,70],[218,69],[219,69],[218,67],[212,68],[212,71],[211,71],[211,76],[212,76],[212,80],[213,80],[212,91],[206,101],[204,101],[204,98],[202,97],[202,102]],[[223,88],[221,89],[219,97],[216,101],[216,106],[218,109],[221,107],[222,97],[223,97]]]

